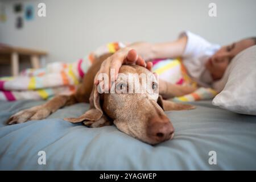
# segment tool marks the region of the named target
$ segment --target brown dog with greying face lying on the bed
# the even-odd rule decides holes
[[[100,69],[102,61],[108,56],[110,54],[101,56],[94,62],[75,94],[71,96],[55,96],[43,105],[19,111],[12,115],[7,123],[12,125],[28,120],[44,119],[60,107],[77,102],[89,102],[90,109],[79,118],[65,118],[65,120],[72,123],[83,122],[89,127],[101,127],[114,123],[123,133],[150,144],[171,139],[174,136],[174,127],[167,115],[164,114],[164,110],[184,110],[195,107],[165,101],[161,96],[158,99],[151,100],[147,94],[140,93],[99,94],[93,84],[93,80]],[[128,73],[138,73],[138,75],[140,73],[153,74],[148,69],[138,65],[122,65],[119,73],[126,75]],[[129,82],[129,84],[132,83]],[[129,84],[126,86],[129,86]]]

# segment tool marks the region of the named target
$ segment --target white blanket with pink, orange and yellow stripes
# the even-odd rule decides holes
[[[72,94],[96,57],[104,53],[114,53],[125,44],[114,42],[101,46],[88,56],[74,63],[49,63],[46,68],[26,69],[18,77],[0,78],[0,100],[48,100],[56,94]],[[189,84],[197,88],[187,74],[181,59],[154,60],[153,71],[159,78],[172,84]],[[194,93],[175,97],[176,101],[207,100],[216,96],[211,88],[198,88]]]

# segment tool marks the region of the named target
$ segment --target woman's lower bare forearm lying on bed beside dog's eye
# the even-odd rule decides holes
[[[195,90],[196,88],[192,86],[171,84],[159,79],[159,94],[165,99],[184,96],[185,94],[195,92]]]

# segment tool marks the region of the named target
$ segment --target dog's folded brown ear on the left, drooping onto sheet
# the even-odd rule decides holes
[[[90,109],[84,114],[80,115],[78,118],[64,118],[65,121],[72,123],[83,122],[84,125],[90,127],[101,127],[105,125],[110,125],[110,122],[105,117],[101,105],[100,105],[100,94],[96,86],[93,86],[93,91],[90,94]]]

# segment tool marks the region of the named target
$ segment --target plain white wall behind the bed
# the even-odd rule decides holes
[[[15,28],[13,3],[6,5],[7,22],[0,23],[0,42],[45,49],[47,61],[73,61],[96,47],[122,42],[164,42],[190,30],[214,43],[226,44],[256,36],[255,0],[40,0],[47,17],[35,17]],[[20,1],[19,1],[20,2]],[[208,16],[210,2],[217,4],[217,18]]]

